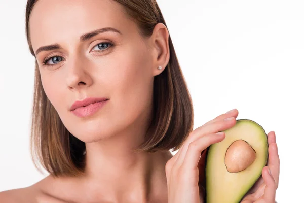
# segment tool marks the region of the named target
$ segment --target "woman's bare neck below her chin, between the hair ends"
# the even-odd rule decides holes
[[[146,127],[133,126],[86,144],[85,179],[94,186],[92,191],[103,191],[117,202],[146,202],[167,195],[165,164],[172,157],[170,151],[132,152],[145,131]]]

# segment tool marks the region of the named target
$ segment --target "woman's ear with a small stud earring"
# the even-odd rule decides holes
[[[169,31],[163,23],[158,23],[151,36],[151,49],[153,60],[154,76],[161,74],[167,66],[170,59],[169,49]],[[158,67],[162,66],[162,70]]]

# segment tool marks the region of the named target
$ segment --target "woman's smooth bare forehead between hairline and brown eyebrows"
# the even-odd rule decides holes
[[[124,33],[134,24],[123,7],[112,0],[39,0],[29,19],[34,50],[48,44],[79,41],[84,33],[103,27]]]

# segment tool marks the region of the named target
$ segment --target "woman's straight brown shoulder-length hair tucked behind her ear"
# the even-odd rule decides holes
[[[166,25],[156,0],[113,0],[124,6],[143,37],[149,37],[158,23]],[[26,5],[26,37],[29,50],[29,17],[37,0]],[[166,25],[167,26],[167,25]],[[192,99],[180,69],[169,36],[170,59],[166,69],[154,80],[154,115],[145,141],[134,151],[173,151],[179,149],[193,130]],[[46,96],[35,62],[34,98],[31,122],[31,155],[35,166],[40,164],[54,176],[77,176],[85,166],[85,143],[74,137],[63,125],[55,108]],[[39,167],[37,167],[39,169]]]

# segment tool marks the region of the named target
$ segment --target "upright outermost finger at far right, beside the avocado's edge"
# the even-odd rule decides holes
[[[280,157],[278,154],[277,143],[271,143],[268,148],[269,153],[269,168],[276,182],[276,188],[279,186],[279,176],[280,176]]]

